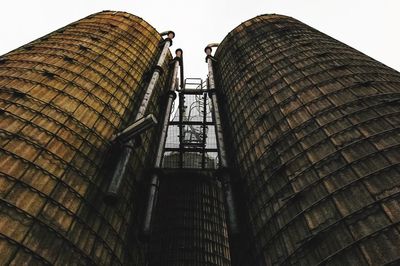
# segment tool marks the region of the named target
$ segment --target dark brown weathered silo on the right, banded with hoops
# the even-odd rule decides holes
[[[237,264],[399,263],[400,73],[280,15],[215,57],[247,220]]]

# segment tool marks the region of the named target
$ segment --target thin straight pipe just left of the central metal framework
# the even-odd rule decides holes
[[[147,200],[147,207],[146,207],[144,223],[143,223],[143,234],[145,237],[149,236],[150,232],[151,232],[151,224],[152,224],[152,219],[154,216],[154,208],[155,208],[155,204],[157,201],[158,189],[159,189],[159,184],[160,184],[158,169],[161,168],[161,166],[162,166],[165,142],[167,139],[169,118],[170,118],[171,111],[172,111],[172,105],[176,98],[176,93],[175,93],[176,88],[178,87],[177,86],[178,85],[177,84],[178,70],[179,70],[179,66],[182,66],[182,50],[177,49],[175,53],[176,53],[176,57],[173,59],[174,70],[172,72],[172,81],[171,81],[170,89],[168,91],[168,100],[167,100],[167,105],[166,105],[165,112],[164,112],[163,124],[162,124],[162,129],[161,129],[161,134],[160,134],[160,142],[158,144],[156,160],[154,162],[154,172],[152,173],[151,180],[150,180],[150,188],[149,188],[149,194],[148,194],[148,200]],[[181,80],[181,82],[182,82],[182,80]]]

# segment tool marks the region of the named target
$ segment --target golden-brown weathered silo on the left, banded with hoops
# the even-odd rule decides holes
[[[0,57],[0,264],[141,263],[137,181],[124,180],[108,206],[102,165],[139,108],[161,40],[141,18],[105,11]],[[136,176],[154,132],[136,149]]]

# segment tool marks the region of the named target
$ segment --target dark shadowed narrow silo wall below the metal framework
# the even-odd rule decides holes
[[[223,190],[212,171],[164,171],[150,265],[231,265],[225,221]]]

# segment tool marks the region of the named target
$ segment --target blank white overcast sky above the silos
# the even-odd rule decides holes
[[[206,76],[204,47],[257,15],[292,16],[400,70],[400,0],[2,0],[0,54],[102,10],[138,15],[176,33],[185,76]]]

